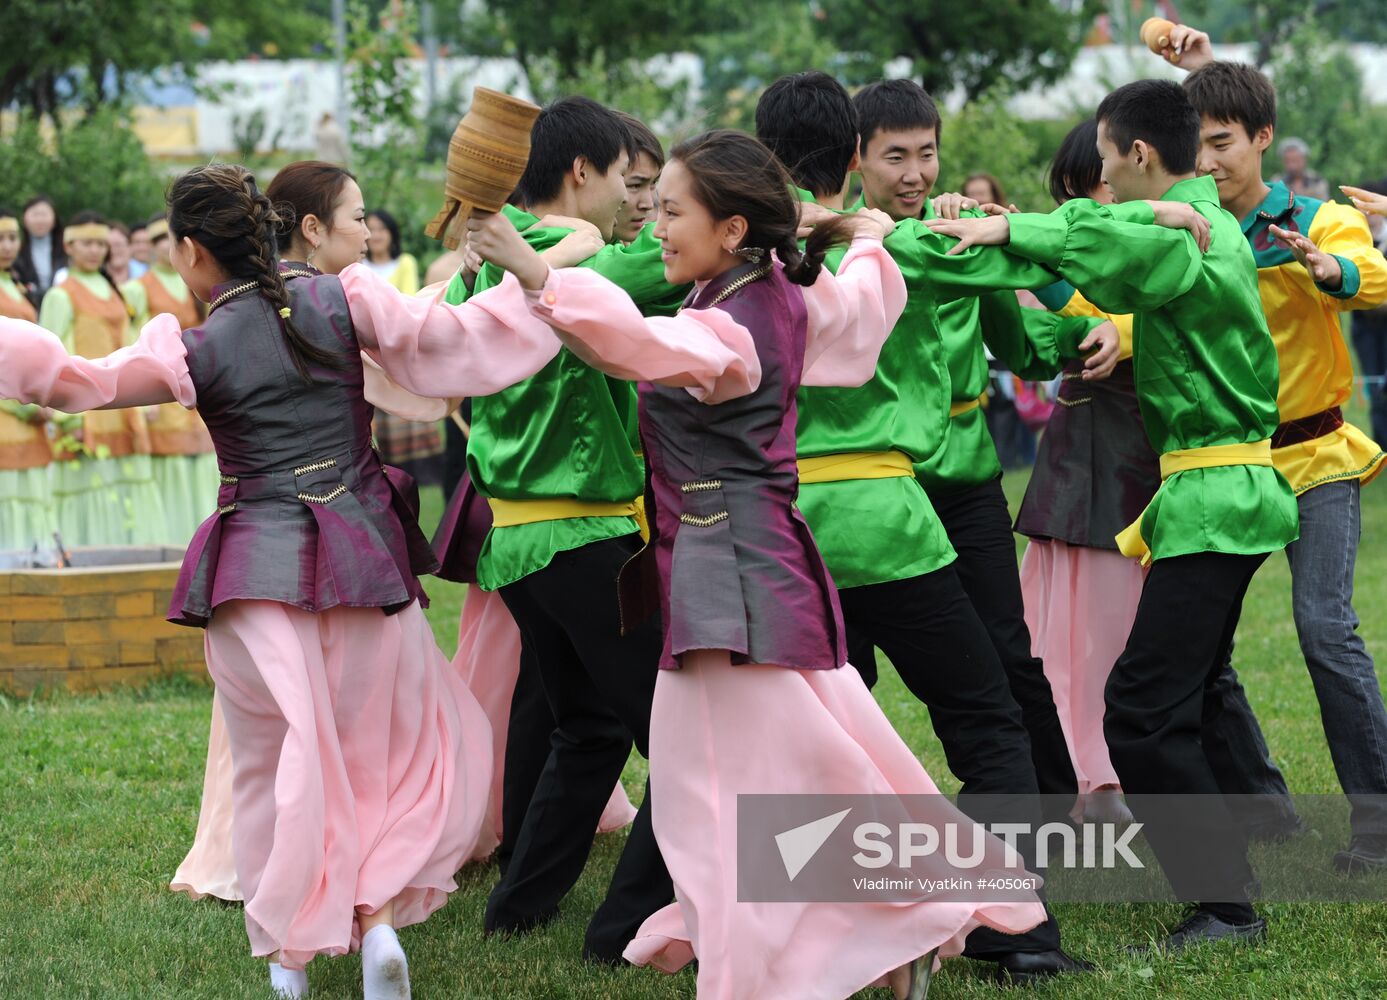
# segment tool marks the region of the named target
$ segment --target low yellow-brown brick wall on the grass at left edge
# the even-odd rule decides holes
[[[104,691],[207,674],[203,630],[164,620],[178,563],[0,571],[0,691]]]

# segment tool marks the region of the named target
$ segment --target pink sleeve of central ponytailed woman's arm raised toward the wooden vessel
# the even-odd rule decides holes
[[[687,388],[709,404],[748,395],[761,383],[750,331],[721,309],[648,319],[630,295],[588,268],[551,270],[530,302],[569,350],[619,379]]]

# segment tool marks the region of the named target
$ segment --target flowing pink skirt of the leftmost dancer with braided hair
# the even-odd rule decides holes
[[[442,906],[481,832],[491,732],[419,605],[232,601],[207,663],[252,954],[302,968],[359,945],[358,910],[394,900],[406,926]]]

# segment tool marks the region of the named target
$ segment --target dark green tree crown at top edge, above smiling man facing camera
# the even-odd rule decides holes
[[[1068,72],[1101,0],[859,0],[817,18],[845,51],[907,58],[925,89],[970,97],[1007,83],[1024,90]]]

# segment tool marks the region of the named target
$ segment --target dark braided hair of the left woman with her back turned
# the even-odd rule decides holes
[[[288,288],[276,261],[280,218],[250,171],[233,164],[189,171],[169,189],[168,209],[169,234],[175,240],[191,237],[216,258],[227,277],[257,282],[276,312],[288,308]],[[280,325],[294,368],[305,380],[312,380],[309,365],[347,366],[343,354],[304,337],[293,318],[282,316]]]

